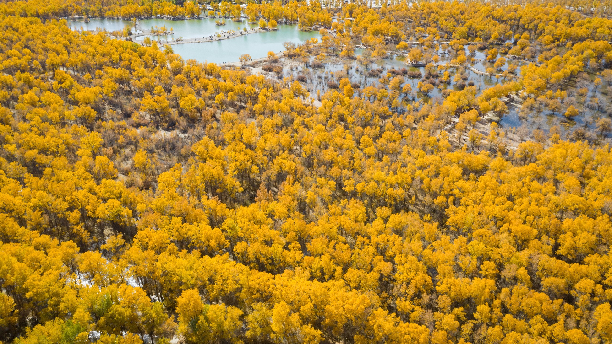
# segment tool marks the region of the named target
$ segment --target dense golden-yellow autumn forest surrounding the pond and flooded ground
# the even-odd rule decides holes
[[[509,94],[521,111],[577,116],[612,82],[606,4],[237,14],[321,29],[289,59],[405,51],[436,75],[425,94],[463,83],[474,48],[527,61],[492,67],[502,84],[425,103],[397,71],[363,89],[338,74],[314,95],[61,19],[197,17],[193,2],[0,2],[0,340],[612,342],[608,114],[597,133],[516,143],[496,122],[477,127]],[[446,66],[432,53],[442,42]]]

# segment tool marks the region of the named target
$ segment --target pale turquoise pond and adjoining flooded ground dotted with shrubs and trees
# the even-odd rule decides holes
[[[333,13],[342,16],[342,12]],[[291,56],[286,54],[286,42],[293,43],[293,48],[304,46],[310,39],[318,42],[322,36],[333,36],[335,32],[300,30],[297,24],[285,24],[275,29],[265,29],[256,34],[240,34],[249,30],[259,28],[259,23],[247,22],[246,20],[234,21],[230,18],[223,20],[223,24],[216,18],[197,18],[184,20],[169,20],[164,18],[149,18],[138,21],[141,28],[168,28],[171,32],[165,34],[146,34],[138,31],[132,22],[120,19],[89,18],[87,23],[83,19],[69,22],[73,29],[89,31],[102,30],[119,34],[124,28],[128,28],[130,34],[136,34],[136,42],[143,43],[145,39],[149,44],[152,41],[159,42],[160,46],[172,45],[171,50],[179,54],[185,61],[195,60],[198,62],[214,62],[222,66],[236,67],[251,70],[252,73],[262,73],[266,77],[285,78],[298,80],[304,83],[305,88],[315,103],[320,103],[321,96],[327,91],[337,89],[343,78],[348,78],[349,84],[357,95],[367,94],[367,89],[388,86],[393,78],[401,79],[401,88],[409,86],[409,91],[398,97],[398,106],[394,108],[399,113],[406,110],[419,110],[423,105],[442,104],[451,91],[462,91],[466,87],[475,88],[473,97],[479,97],[480,93],[497,84],[506,84],[520,78],[521,66],[530,63],[538,63],[538,53],[546,53],[551,50],[566,50],[565,47],[545,47],[543,44],[530,45],[531,59],[522,59],[520,56],[510,55],[509,51],[516,47],[519,37],[507,40],[505,43],[473,43],[455,40],[452,44],[449,40],[428,39],[428,45],[424,47],[423,42],[407,43],[406,47],[398,49],[395,44],[384,47],[383,56],[372,56],[371,51],[360,42],[349,42],[353,44],[351,53],[340,56],[338,51],[330,53],[327,48],[315,47],[309,51],[310,57]],[[341,24],[351,19],[335,17],[334,22]],[[228,38],[207,42],[212,37],[221,34]],[[411,37],[414,41],[414,38]],[[192,40],[185,42],[185,40]],[[193,42],[197,40],[198,42]],[[306,44],[308,45],[308,43]],[[313,45],[316,45],[313,44]],[[411,61],[409,51],[419,50],[421,55],[426,52],[429,61]],[[490,52],[495,50],[494,59],[490,59]],[[267,54],[272,52],[277,59],[271,61]],[[243,54],[250,56],[250,63],[239,64],[239,57]],[[463,66],[457,66],[458,55],[465,55],[466,62]],[[431,59],[436,56],[436,59]],[[255,59],[255,62],[252,62]],[[282,67],[282,73],[280,67]],[[505,73],[504,73],[505,72]],[[612,82],[612,75],[606,75],[607,81],[597,70],[586,69],[579,75],[557,85],[554,92],[561,91],[561,99],[551,99],[549,95],[538,99],[529,99],[524,104],[524,99],[529,95],[523,92],[512,91],[503,100],[504,105],[497,111],[488,111],[480,117],[478,127],[483,135],[490,132],[488,127],[491,122],[496,122],[506,133],[511,146],[516,148],[518,143],[532,137],[534,130],[549,132],[553,127],[554,132],[559,132],[563,138],[577,137],[590,138],[591,140],[604,139],[593,134],[597,130],[602,131],[601,125],[597,127],[602,114],[612,113],[610,105],[611,97],[608,97],[608,87]],[[597,84],[594,80],[599,79]],[[423,92],[419,83],[431,84],[433,89]],[[509,95],[512,94],[510,97]],[[554,97],[553,97],[554,98]],[[574,116],[565,116],[568,107],[572,106],[578,112]],[[446,130],[457,136],[464,133],[453,129],[458,122],[459,115],[449,119]],[[605,117],[605,116],[603,116]],[[603,130],[605,132],[605,130]],[[465,133],[467,135],[467,133]],[[539,133],[537,135],[540,135]],[[466,141],[466,137],[461,136]]]

